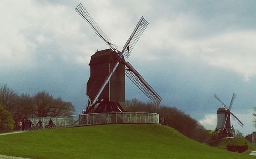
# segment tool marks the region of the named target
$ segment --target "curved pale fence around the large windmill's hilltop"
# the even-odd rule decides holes
[[[69,127],[80,125],[117,124],[117,123],[155,123],[159,124],[159,114],[144,112],[113,112],[71,115],[65,117],[30,118],[37,124],[39,120],[44,127],[52,119],[57,127]]]

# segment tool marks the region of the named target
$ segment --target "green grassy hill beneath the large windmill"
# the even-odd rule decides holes
[[[155,124],[37,130],[0,136],[0,154],[28,158],[255,158],[213,148]]]

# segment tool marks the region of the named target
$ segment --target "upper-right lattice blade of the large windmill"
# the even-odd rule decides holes
[[[124,54],[126,58],[128,58],[129,55],[131,54],[133,47],[139,40],[140,36],[146,29],[147,25],[148,25],[148,22],[143,17],[141,17],[140,21],[138,22],[130,38],[127,40],[127,42],[123,46],[122,54]]]

